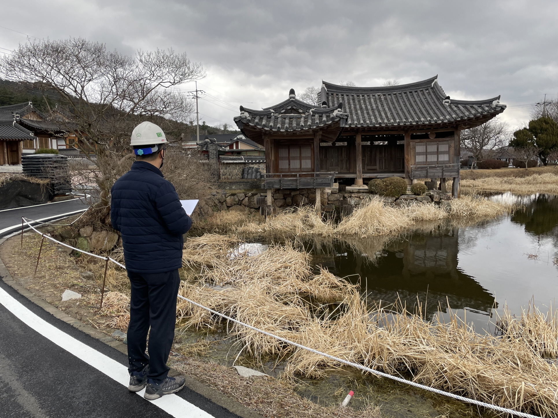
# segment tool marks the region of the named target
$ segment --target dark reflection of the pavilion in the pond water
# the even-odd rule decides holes
[[[448,303],[452,309],[484,313],[493,307],[493,295],[458,268],[458,227],[446,225],[429,232],[414,232],[378,250],[377,241],[336,242],[335,255],[322,249],[323,255],[317,256],[315,262],[328,266],[338,276],[349,276],[354,283],[360,278],[369,300],[385,305],[399,298],[411,308],[420,302],[426,307],[427,318],[439,307],[445,312]],[[366,252],[371,249],[376,251]]]

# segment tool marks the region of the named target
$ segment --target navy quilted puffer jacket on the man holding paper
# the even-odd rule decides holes
[[[163,273],[182,266],[182,234],[192,220],[161,171],[136,161],[111,189],[110,221],[121,232],[126,269]]]

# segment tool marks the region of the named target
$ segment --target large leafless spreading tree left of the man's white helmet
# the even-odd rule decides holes
[[[126,56],[107,51],[103,43],[83,38],[28,40],[0,59],[9,80],[54,90],[61,106],[52,119],[75,135],[76,146],[93,169],[88,180],[99,192],[97,208],[108,213],[110,188],[131,162],[129,138],[138,123],[160,125],[171,140],[179,139],[193,110],[173,86],[204,76],[201,64],[172,50],[138,51]]]

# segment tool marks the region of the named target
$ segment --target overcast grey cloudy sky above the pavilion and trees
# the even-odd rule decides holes
[[[209,124],[231,124],[240,104],[271,106],[321,80],[375,86],[438,74],[452,98],[502,95],[512,128],[558,92],[556,1],[27,0],[4,3],[3,16],[4,53],[23,34],[81,36],[130,55],[186,52],[207,72],[198,86]]]

